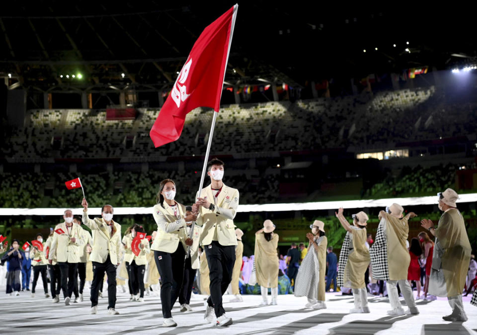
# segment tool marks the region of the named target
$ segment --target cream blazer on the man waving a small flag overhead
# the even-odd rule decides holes
[[[83,210],[83,223],[93,232],[93,246],[89,260],[91,262],[104,263],[109,258],[113,265],[119,263],[121,257],[121,225],[111,221],[114,224],[113,236],[109,234],[108,226],[102,217],[95,217],[91,220],[88,212]]]

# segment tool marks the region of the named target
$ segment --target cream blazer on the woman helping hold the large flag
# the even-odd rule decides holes
[[[158,233],[154,239],[151,250],[162,251],[172,254],[177,250],[179,242],[182,244],[184,251],[187,251],[185,240],[187,239],[187,226],[184,220],[185,206],[176,202],[180,218],[174,216],[174,211],[163,202],[164,207],[159,203],[153,207],[153,216],[158,225]]]

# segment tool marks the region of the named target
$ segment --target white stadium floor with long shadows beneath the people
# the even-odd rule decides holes
[[[82,303],[65,306],[45,298],[38,286],[34,298],[26,291],[20,296],[1,293],[0,334],[477,334],[477,307],[469,303],[470,295],[464,297],[469,317],[464,323],[442,320],[450,314],[447,300],[442,298],[418,300],[419,315],[392,317],[386,314],[390,309],[387,298],[370,297],[370,314],[348,314],[352,297],[340,293],[326,294],[325,310],[305,309],[306,298],[293,295],[279,295],[277,306],[259,306],[259,295],[244,295],[240,303],[228,302],[232,296],[225,295],[226,313],[234,320],[226,328],[204,324],[204,296],[196,295],[191,300],[192,312],[181,313],[178,304],[174,306],[172,317],[177,327],[162,328],[157,296],[147,296],[140,303],[130,302],[127,293],[118,293],[120,315],[112,316],[106,313],[105,289],[98,314],[91,315],[88,290]],[[0,289],[5,292],[4,287]]]

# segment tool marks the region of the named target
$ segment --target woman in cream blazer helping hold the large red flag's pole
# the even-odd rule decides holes
[[[161,181],[157,204],[153,208],[158,233],[151,250],[154,250],[154,259],[160,274],[163,327],[177,326],[170,311],[182,286],[187,246],[192,245],[192,240],[187,237],[185,222],[196,219],[196,214],[184,217],[185,207],[174,201],[174,197],[175,183],[170,179]]]

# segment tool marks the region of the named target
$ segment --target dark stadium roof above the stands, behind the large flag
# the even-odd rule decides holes
[[[204,27],[234,3],[7,1],[0,12],[0,77],[10,89],[169,89]],[[471,15],[246,1],[239,3],[225,81],[302,87],[475,62]]]

